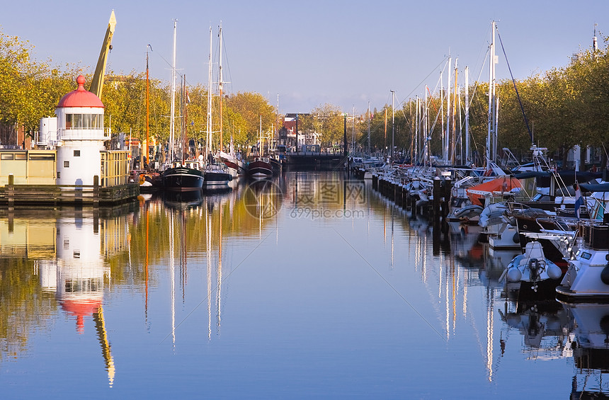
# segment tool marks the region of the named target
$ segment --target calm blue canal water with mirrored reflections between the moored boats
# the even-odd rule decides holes
[[[606,306],[517,304],[498,282],[513,252],[409,217],[343,173],[2,210],[1,397],[608,391]]]

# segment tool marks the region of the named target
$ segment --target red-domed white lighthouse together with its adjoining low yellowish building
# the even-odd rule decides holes
[[[35,149],[0,149],[0,185],[9,177],[15,185],[127,185],[129,154],[106,149],[110,132],[104,127],[104,105],[78,87],[59,100],[55,117],[40,120]]]

